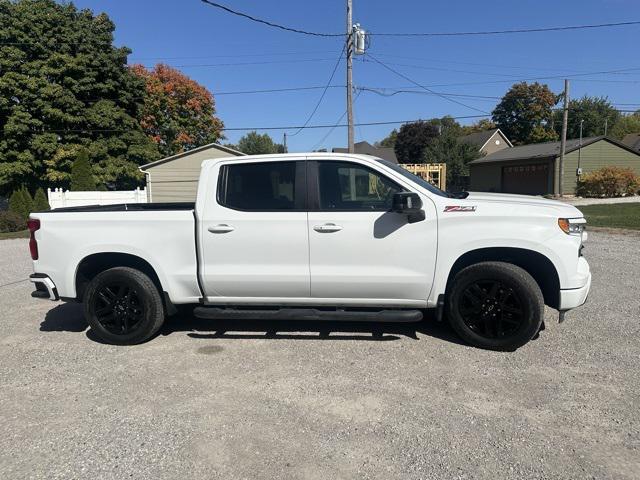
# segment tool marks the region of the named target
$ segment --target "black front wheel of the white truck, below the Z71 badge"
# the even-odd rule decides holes
[[[461,270],[446,299],[451,327],[471,345],[513,351],[539,331],[544,299],[522,268],[482,262]]]

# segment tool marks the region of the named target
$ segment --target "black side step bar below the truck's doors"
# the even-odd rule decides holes
[[[281,308],[245,310],[236,308],[196,307],[194,316],[209,320],[344,320],[347,322],[411,323],[422,320],[420,310],[318,310],[315,308]]]

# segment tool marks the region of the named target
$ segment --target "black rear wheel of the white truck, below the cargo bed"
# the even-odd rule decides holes
[[[162,297],[139,270],[116,267],[91,280],[84,312],[92,331],[115,345],[135,345],[152,337],[164,322]]]

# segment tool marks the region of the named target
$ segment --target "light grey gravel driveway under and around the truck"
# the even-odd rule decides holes
[[[188,316],[104,345],[30,298],[27,250],[0,241],[0,478],[638,478],[638,235],[592,232],[589,302],[515,353]]]

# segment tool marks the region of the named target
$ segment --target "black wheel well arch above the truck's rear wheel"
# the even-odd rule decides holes
[[[100,272],[114,267],[135,268],[146,274],[162,294],[162,284],[156,271],[146,260],[128,253],[95,253],[82,259],[76,270],[76,299],[81,302],[89,282]]]

